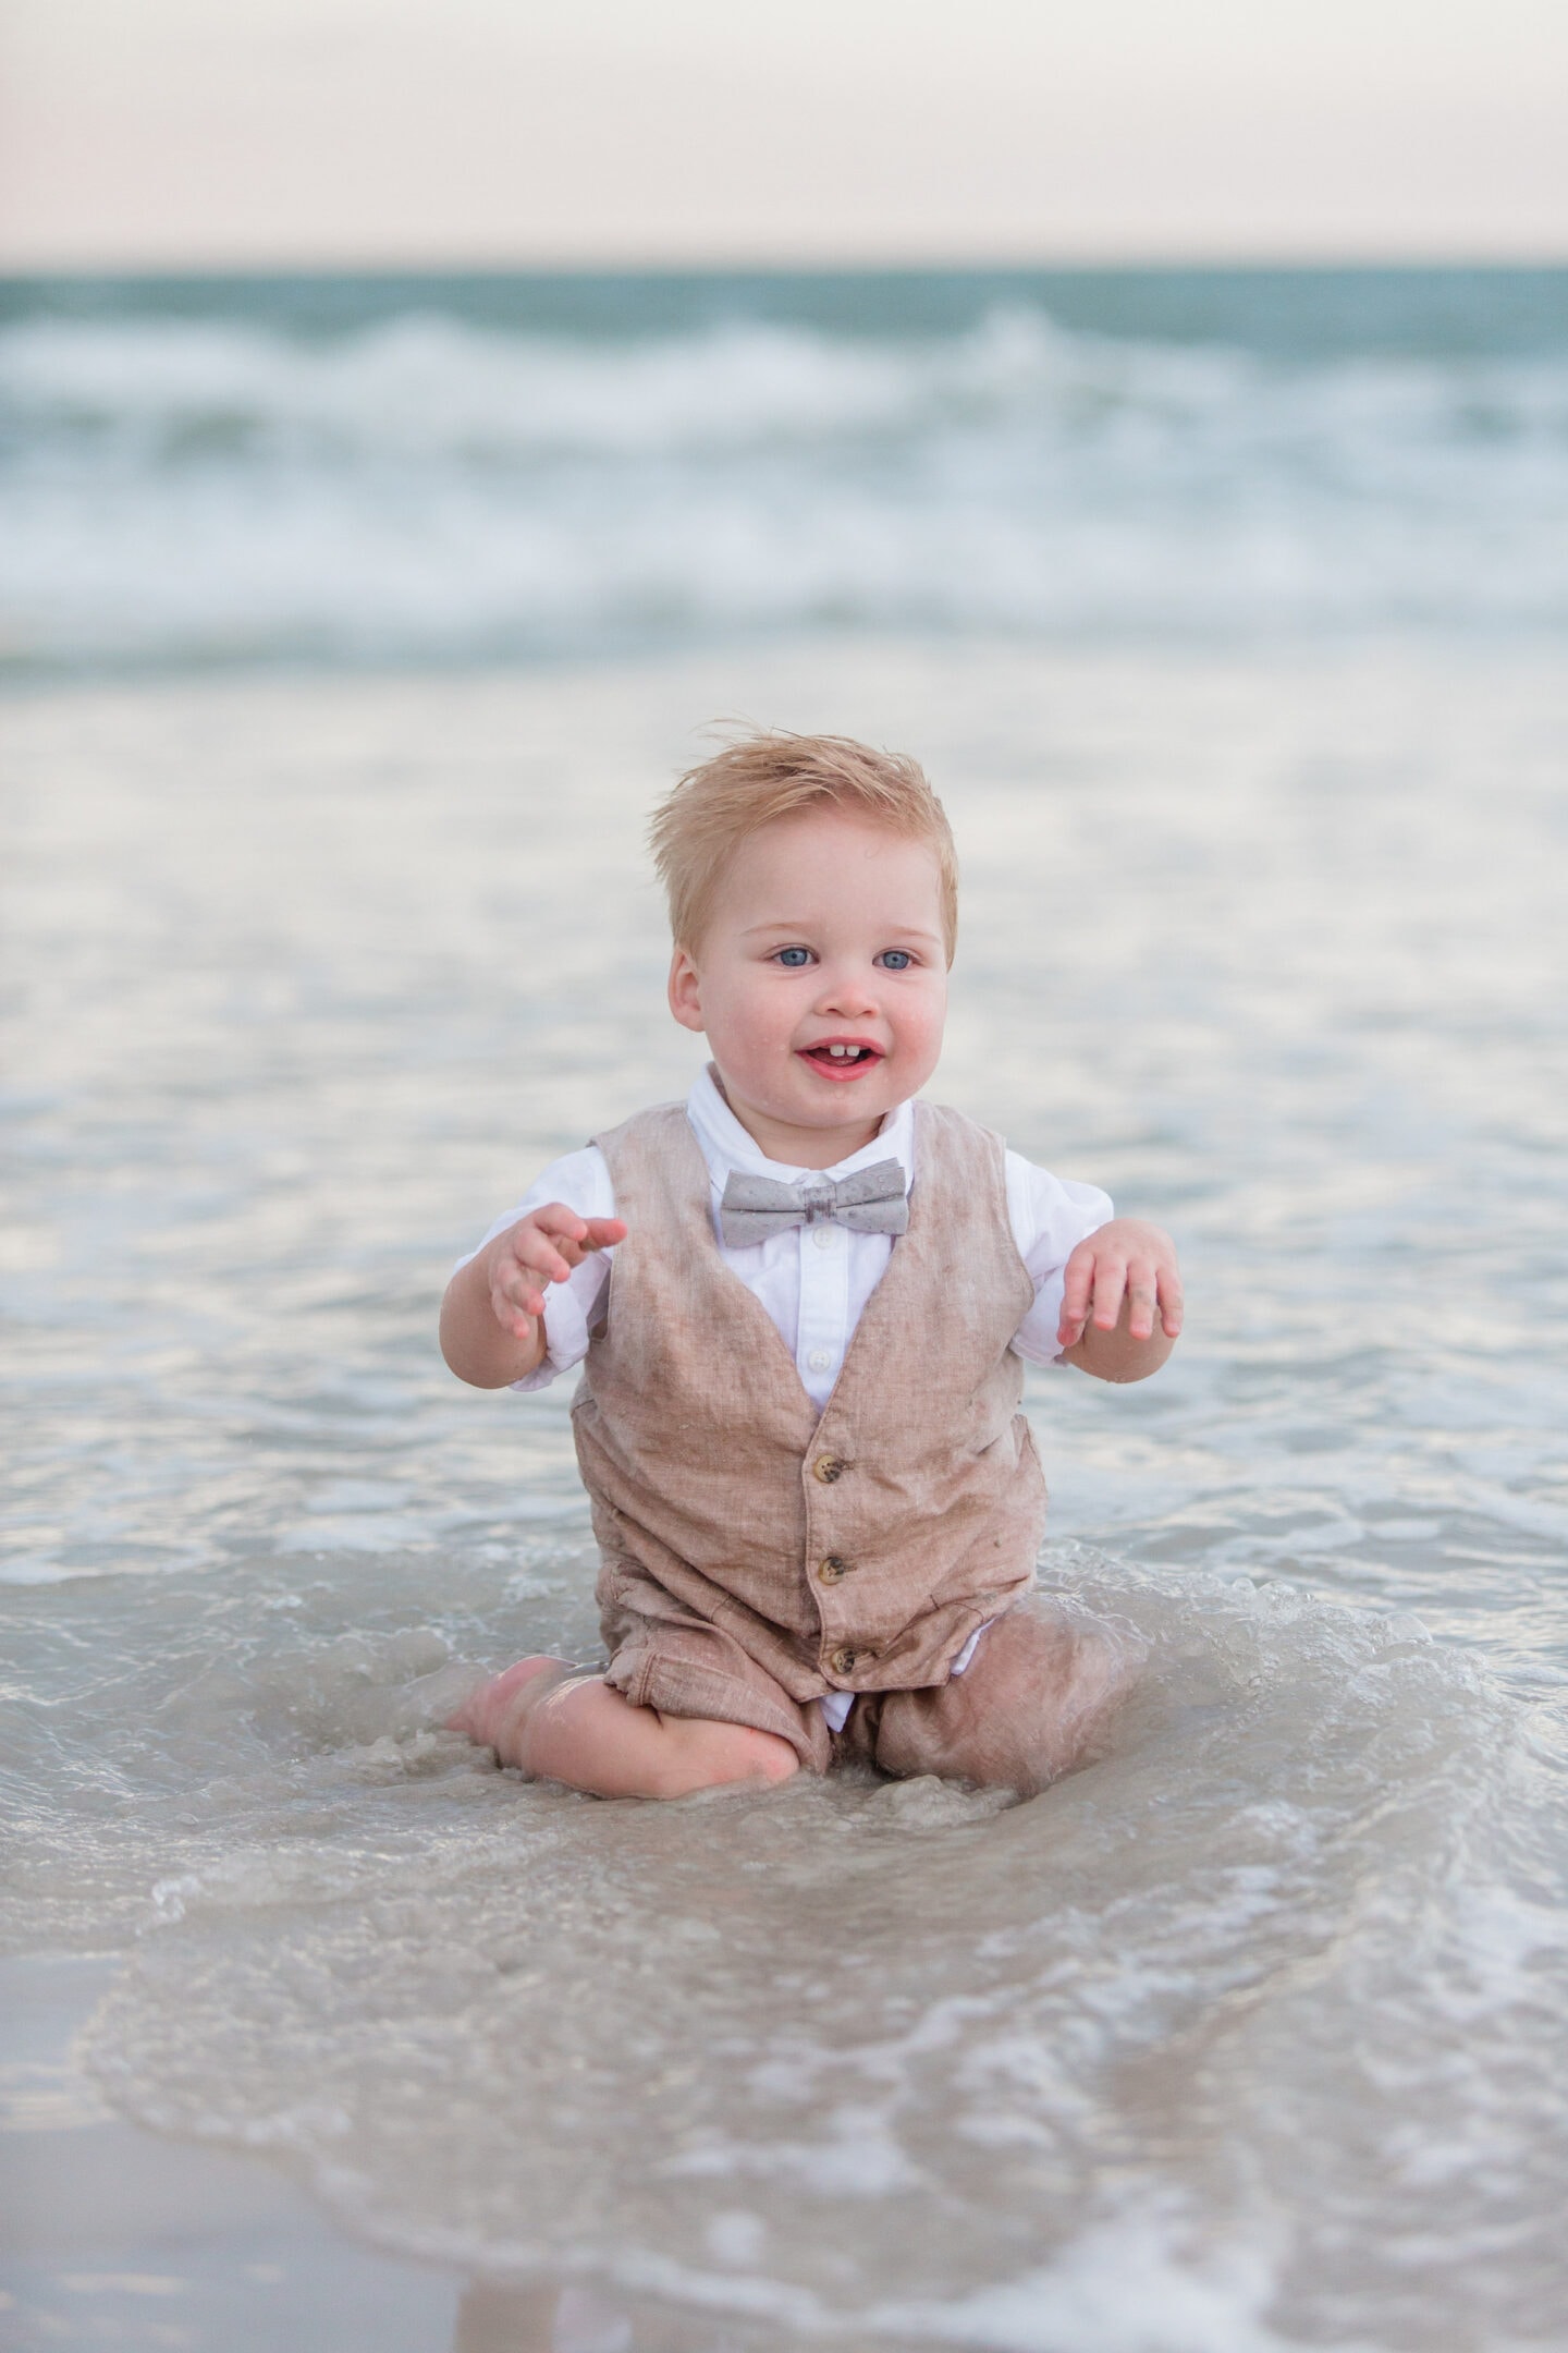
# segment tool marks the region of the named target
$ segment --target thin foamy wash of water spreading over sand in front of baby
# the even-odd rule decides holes
[[[1044,1798],[602,1807],[388,1732],[336,1786],[378,1751],[400,1835],[160,1885],[94,2078],[383,2245],[783,2332],[1528,2337],[1568,1955],[1521,1706],[1284,1588],[1065,1569],[1152,1666]]]

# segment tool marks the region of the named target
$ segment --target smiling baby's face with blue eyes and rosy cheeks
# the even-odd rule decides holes
[[[832,1167],[936,1068],[947,958],[936,852],[842,809],[741,842],[670,1009],[705,1031],[769,1160]],[[842,1052],[832,1052],[839,1047]]]

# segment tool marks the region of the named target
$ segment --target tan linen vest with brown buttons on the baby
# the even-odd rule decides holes
[[[595,1144],[628,1226],[571,1407],[607,1633],[696,1612],[797,1701],[945,1682],[1032,1584],[1046,1520],[1001,1136],[914,1106],[910,1228],[820,1419],[719,1257],[684,1104]]]

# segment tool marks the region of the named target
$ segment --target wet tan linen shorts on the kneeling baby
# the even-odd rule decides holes
[[[1032,1795],[1088,1762],[1138,1649],[1041,1595],[994,1619],[961,1675],[914,1692],[860,1692],[842,1732],[705,1619],[621,1617],[604,1680],[639,1708],[752,1725],[790,1741],[809,1772],[860,1758],[898,1779],[943,1774]]]

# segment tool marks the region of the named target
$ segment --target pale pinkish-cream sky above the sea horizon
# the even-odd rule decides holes
[[[1568,0],[7,0],[0,268],[1568,256]]]

